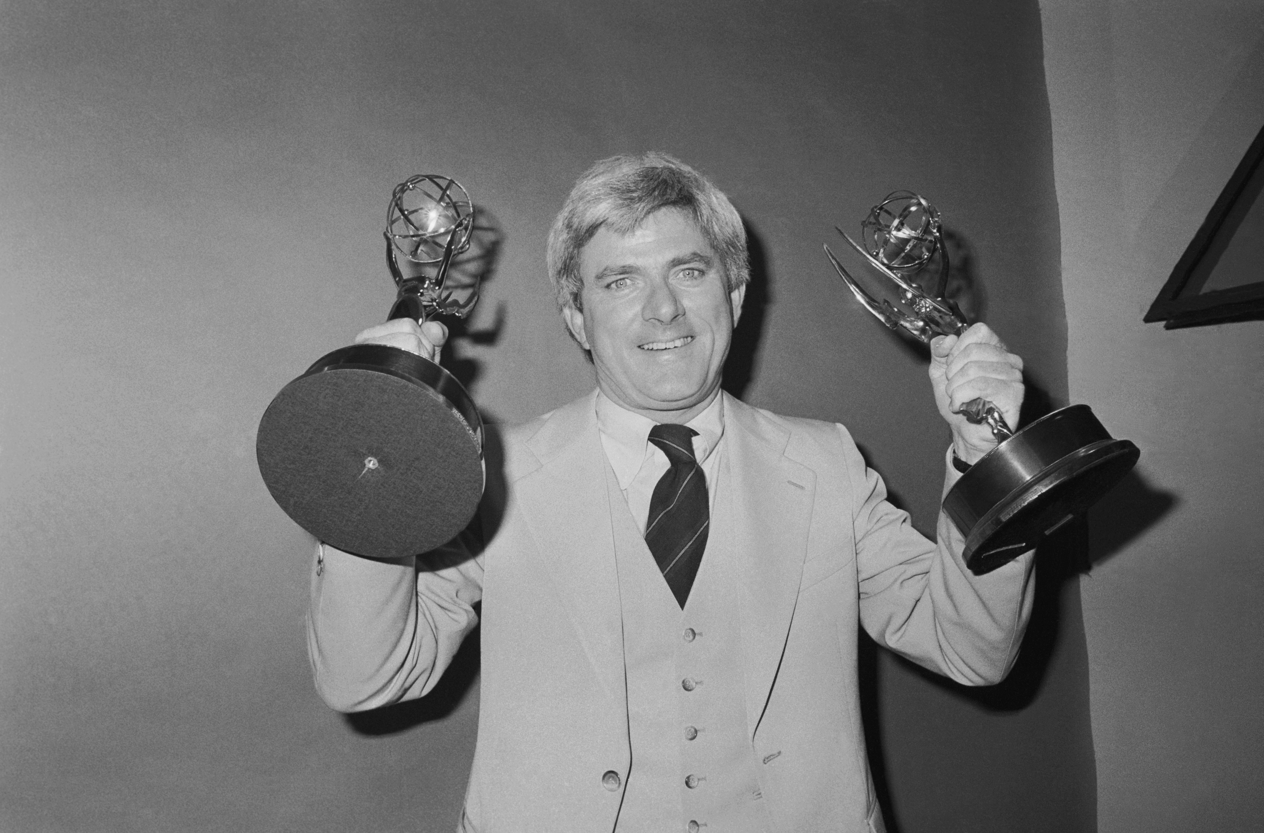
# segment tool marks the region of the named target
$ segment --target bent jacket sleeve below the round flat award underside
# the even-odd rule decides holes
[[[422,556],[374,560],[317,545],[307,654],[321,699],[363,712],[422,696],[478,623],[483,560],[470,533]]]

